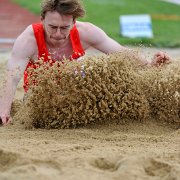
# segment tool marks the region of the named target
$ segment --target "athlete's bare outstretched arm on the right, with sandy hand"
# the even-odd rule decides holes
[[[170,62],[170,57],[168,57],[166,53],[157,52],[154,55],[152,62],[150,63],[143,56],[137,54],[137,52],[135,52],[134,50],[128,49],[120,45],[118,42],[107,36],[107,34],[97,26],[91,23],[78,22],[77,27],[78,24],[79,24],[80,38],[83,47],[85,49],[88,49],[89,47],[93,47],[105,54],[125,51],[127,52],[128,55],[131,55],[132,57],[134,56],[135,59],[138,58],[144,65],[151,64],[153,66],[158,66]]]

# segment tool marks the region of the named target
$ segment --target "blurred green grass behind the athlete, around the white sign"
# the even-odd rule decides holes
[[[13,0],[39,14],[41,0]],[[92,22],[123,45],[180,47],[180,6],[160,0],[84,0],[87,14],[81,21]],[[124,38],[120,36],[119,16],[150,14],[154,38]]]

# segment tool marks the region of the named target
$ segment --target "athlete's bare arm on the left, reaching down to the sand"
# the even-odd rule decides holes
[[[16,39],[7,64],[5,86],[3,87],[3,94],[0,98],[0,117],[3,124],[6,124],[9,119],[11,104],[17,85],[26,69],[29,57],[34,54],[36,44],[31,31],[31,27],[28,27]]]

